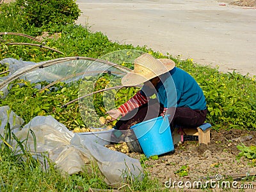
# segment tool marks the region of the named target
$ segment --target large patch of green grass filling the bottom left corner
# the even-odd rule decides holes
[[[88,191],[89,188],[111,189],[96,173],[79,173],[64,177],[54,164],[47,170],[40,164],[20,161],[15,154],[6,157],[1,151],[1,191]],[[3,160],[4,158],[4,160]],[[29,157],[29,159],[33,159]],[[95,168],[96,169],[96,168]]]

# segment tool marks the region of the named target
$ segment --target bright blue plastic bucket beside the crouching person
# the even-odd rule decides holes
[[[134,131],[146,157],[158,156],[174,150],[167,116],[152,118],[133,125],[131,129]]]

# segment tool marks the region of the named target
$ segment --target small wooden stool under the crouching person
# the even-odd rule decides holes
[[[198,136],[198,142],[208,144],[210,143],[210,130],[211,124],[202,124],[196,128],[188,128],[188,127],[175,127],[173,131],[173,144],[179,143],[179,141],[183,142],[183,136]]]

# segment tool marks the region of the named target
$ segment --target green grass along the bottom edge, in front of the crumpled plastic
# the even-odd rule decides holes
[[[104,178],[100,177],[97,167],[91,167],[93,173],[86,171],[61,175],[53,163],[47,170],[32,157],[29,161],[20,160],[16,154],[5,154],[0,150],[0,191],[88,191],[92,189],[113,189],[109,187]],[[84,168],[85,170],[85,168]],[[161,184],[157,180],[149,179],[146,175],[142,180],[127,180],[119,187],[122,191],[161,191]],[[90,190],[89,190],[90,191]]]

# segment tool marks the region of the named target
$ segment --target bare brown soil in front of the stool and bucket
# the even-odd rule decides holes
[[[163,182],[163,185],[170,179],[194,182],[207,177],[215,179],[217,174],[221,174],[223,178],[235,178],[242,173],[255,174],[256,166],[253,166],[251,160],[245,157],[237,159],[241,152],[237,145],[241,143],[246,146],[256,145],[256,131],[211,131],[209,145],[199,145],[198,141],[184,141],[175,147],[175,152],[164,154],[157,160],[145,161],[145,170],[150,173],[150,177]],[[141,157],[138,153],[127,155],[136,159]],[[180,175],[182,167],[188,175]],[[256,188],[256,184],[254,187]]]

